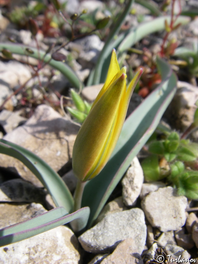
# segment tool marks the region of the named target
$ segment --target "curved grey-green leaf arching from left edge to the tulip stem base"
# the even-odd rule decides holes
[[[73,197],[62,178],[41,158],[30,150],[14,143],[0,140],[0,153],[20,160],[43,183],[57,207],[64,207],[67,212],[73,210]]]

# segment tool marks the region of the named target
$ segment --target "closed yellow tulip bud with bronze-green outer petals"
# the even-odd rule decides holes
[[[126,67],[120,70],[115,49],[106,82],[83,122],[73,148],[72,164],[80,181],[94,178],[109,160],[125,121],[128,104],[142,69],[126,88]]]

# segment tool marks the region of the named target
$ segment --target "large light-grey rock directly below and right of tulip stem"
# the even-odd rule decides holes
[[[145,246],[146,225],[143,211],[139,208],[107,215],[78,239],[85,251],[104,253],[126,238],[134,239],[141,254]]]

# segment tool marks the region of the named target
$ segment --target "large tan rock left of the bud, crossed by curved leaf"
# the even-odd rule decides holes
[[[50,106],[40,105],[23,126],[8,133],[4,139],[31,150],[58,171],[72,158],[78,130],[79,126],[68,117],[62,117]],[[1,154],[0,166],[15,167],[25,180],[43,186],[32,172],[12,157]]]

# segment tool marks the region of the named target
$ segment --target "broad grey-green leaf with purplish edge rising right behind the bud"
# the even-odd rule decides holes
[[[158,59],[157,63],[162,83],[126,119],[109,162],[100,174],[85,186],[82,205],[90,207],[89,226],[97,218],[132,159],[152,135],[175,94],[177,83],[175,74],[163,60]]]

